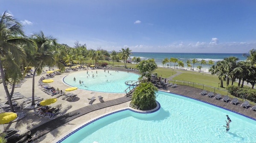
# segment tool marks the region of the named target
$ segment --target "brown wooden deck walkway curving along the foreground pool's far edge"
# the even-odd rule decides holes
[[[112,70],[116,70],[115,68],[113,68]],[[118,69],[120,71],[120,69]],[[125,69],[123,70],[125,71]],[[135,72],[136,73],[136,72]],[[191,86],[183,86],[183,85],[178,85],[178,87],[175,88],[171,88],[171,87],[163,87],[163,86],[158,86],[158,89],[160,90],[165,90],[165,91],[170,91],[171,93],[174,94],[179,94],[179,95],[183,95],[186,97],[190,97],[196,100],[200,100],[206,103],[210,103],[219,107],[222,107],[224,109],[228,109],[240,114],[244,114],[248,117],[254,118],[256,119],[256,112],[250,110],[250,107],[248,109],[242,108],[240,107],[242,101],[239,101],[239,103],[237,105],[233,105],[230,103],[230,99],[228,103],[221,101],[220,100],[216,100],[214,99],[214,97],[207,97],[207,96],[202,96],[199,95],[199,92],[202,92],[202,89],[196,89],[193,88]],[[222,95],[223,97],[223,95]],[[80,109],[77,109],[73,112],[69,112],[67,114],[64,114],[60,117],[57,117],[51,121],[49,121],[48,123],[42,124],[34,129],[31,130],[32,134],[37,133],[36,137],[34,138],[34,140],[36,140],[39,137],[42,137],[43,135],[47,134],[48,132],[51,132],[52,130],[56,129],[59,126],[62,126],[65,123],[68,123],[69,121],[80,117],[84,114],[87,114],[89,112],[98,110],[98,109],[103,109],[109,106],[114,106],[114,105],[118,105],[121,103],[125,103],[131,100],[131,97],[125,96],[125,97],[121,97],[115,100],[109,100],[109,101],[105,101],[103,103],[97,103],[97,104],[92,104],[89,106],[85,106],[82,107]],[[250,106],[254,106],[254,105],[250,105]],[[16,137],[12,140],[9,140],[9,143],[24,143],[26,142],[26,134],[21,134],[19,137]]]

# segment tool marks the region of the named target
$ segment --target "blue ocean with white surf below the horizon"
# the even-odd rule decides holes
[[[208,60],[212,60],[214,61],[214,64],[217,61],[223,60],[225,57],[237,57],[239,61],[241,60],[246,60],[246,57],[243,56],[243,54],[229,54],[229,53],[148,53],[148,52],[132,52],[132,54],[130,55],[130,57],[140,57],[142,60],[146,60],[146,59],[150,59],[153,58],[155,59],[155,63],[160,66],[163,67],[162,64],[162,60],[164,60],[164,58],[168,58],[170,60],[171,57],[174,58],[178,58],[178,60],[182,60],[184,63],[184,68],[183,69],[187,69],[187,64],[186,61],[187,60],[192,60],[193,59],[197,59],[198,61],[201,61],[202,59],[206,61],[206,63],[208,63]],[[170,62],[167,63],[168,65],[170,65]],[[170,68],[170,66],[164,65],[165,68]],[[177,63],[176,63],[177,65]],[[192,69],[193,69],[193,63],[191,63],[192,65]],[[196,70],[196,67],[199,66],[201,64],[196,63],[194,65],[194,70]],[[212,66],[212,65],[210,65]],[[171,63],[171,67],[174,68],[174,63]],[[176,68],[179,68],[179,66]],[[209,65],[202,65],[202,69],[207,72],[209,69]]]

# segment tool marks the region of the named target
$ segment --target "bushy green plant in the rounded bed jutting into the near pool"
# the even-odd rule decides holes
[[[151,110],[156,107],[156,92],[157,87],[153,83],[140,83],[133,92],[131,97],[131,105],[136,106],[140,110]]]

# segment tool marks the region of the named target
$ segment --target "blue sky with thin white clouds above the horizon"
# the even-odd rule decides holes
[[[25,34],[87,49],[246,53],[256,49],[256,0],[0,0]]]

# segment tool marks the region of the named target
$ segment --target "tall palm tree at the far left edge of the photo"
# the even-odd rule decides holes
[[[10,109],[14,112],[12,106],[12,93],[9,93],[6,81],[12,78],[13,83],[17,82],[21,77],[21,70],[19,61],[21,58],[26,57],[24,52],[24,46],[22,43],[30,44],[29,40],[24,37],[24,31],[21,23],[19,23],[14,17],[11,16],[7,11],[3,12],[0,16],[0,73],[3,81],[4,90],[8,98]],[[8,62],[9,67],[5,63]],[[12,70],[9,72],[9,70]],[[4,72],[5,71],[5,72]]]

